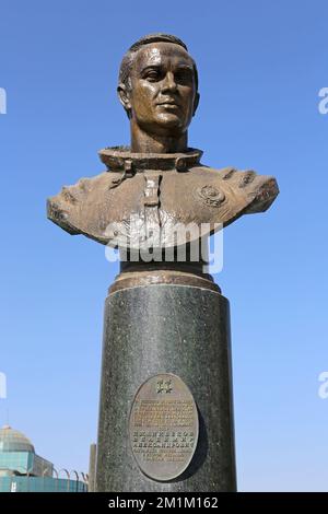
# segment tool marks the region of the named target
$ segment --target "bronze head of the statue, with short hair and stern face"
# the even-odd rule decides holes
[[[124,56],[117,91],[129,118],[144,132],[180,136],[199,102],[196,63],[177,37],[144,36]]]

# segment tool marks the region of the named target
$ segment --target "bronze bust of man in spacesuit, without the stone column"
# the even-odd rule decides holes
[[[273,177],[214,170],[201,164],[200,150],[188,148],[198,73],[180,39],[166,34],[139,39],[122,59],[117,90],[131,147],[101,150],[106,171],[50,198],[51,221],[117,247],[121,235],[136,231],[134,219],[145,238],[157,233],[160,244],[174,245],[177,223],[207,223],[210,234],[219,223],[226,226],[271,206],[279,192]]]

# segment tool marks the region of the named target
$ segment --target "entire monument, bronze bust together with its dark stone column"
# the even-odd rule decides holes
[[[130,145],[101,150],[103,173],[48,200],[52,222],[120,253],[105,304],[96,490],[235,491],[230,306],[208,254],[194,257],[210,234],[266,211],[278,185],[204,165],[189,148],[198,71],[179,38],[133,44],[117,92]]]

